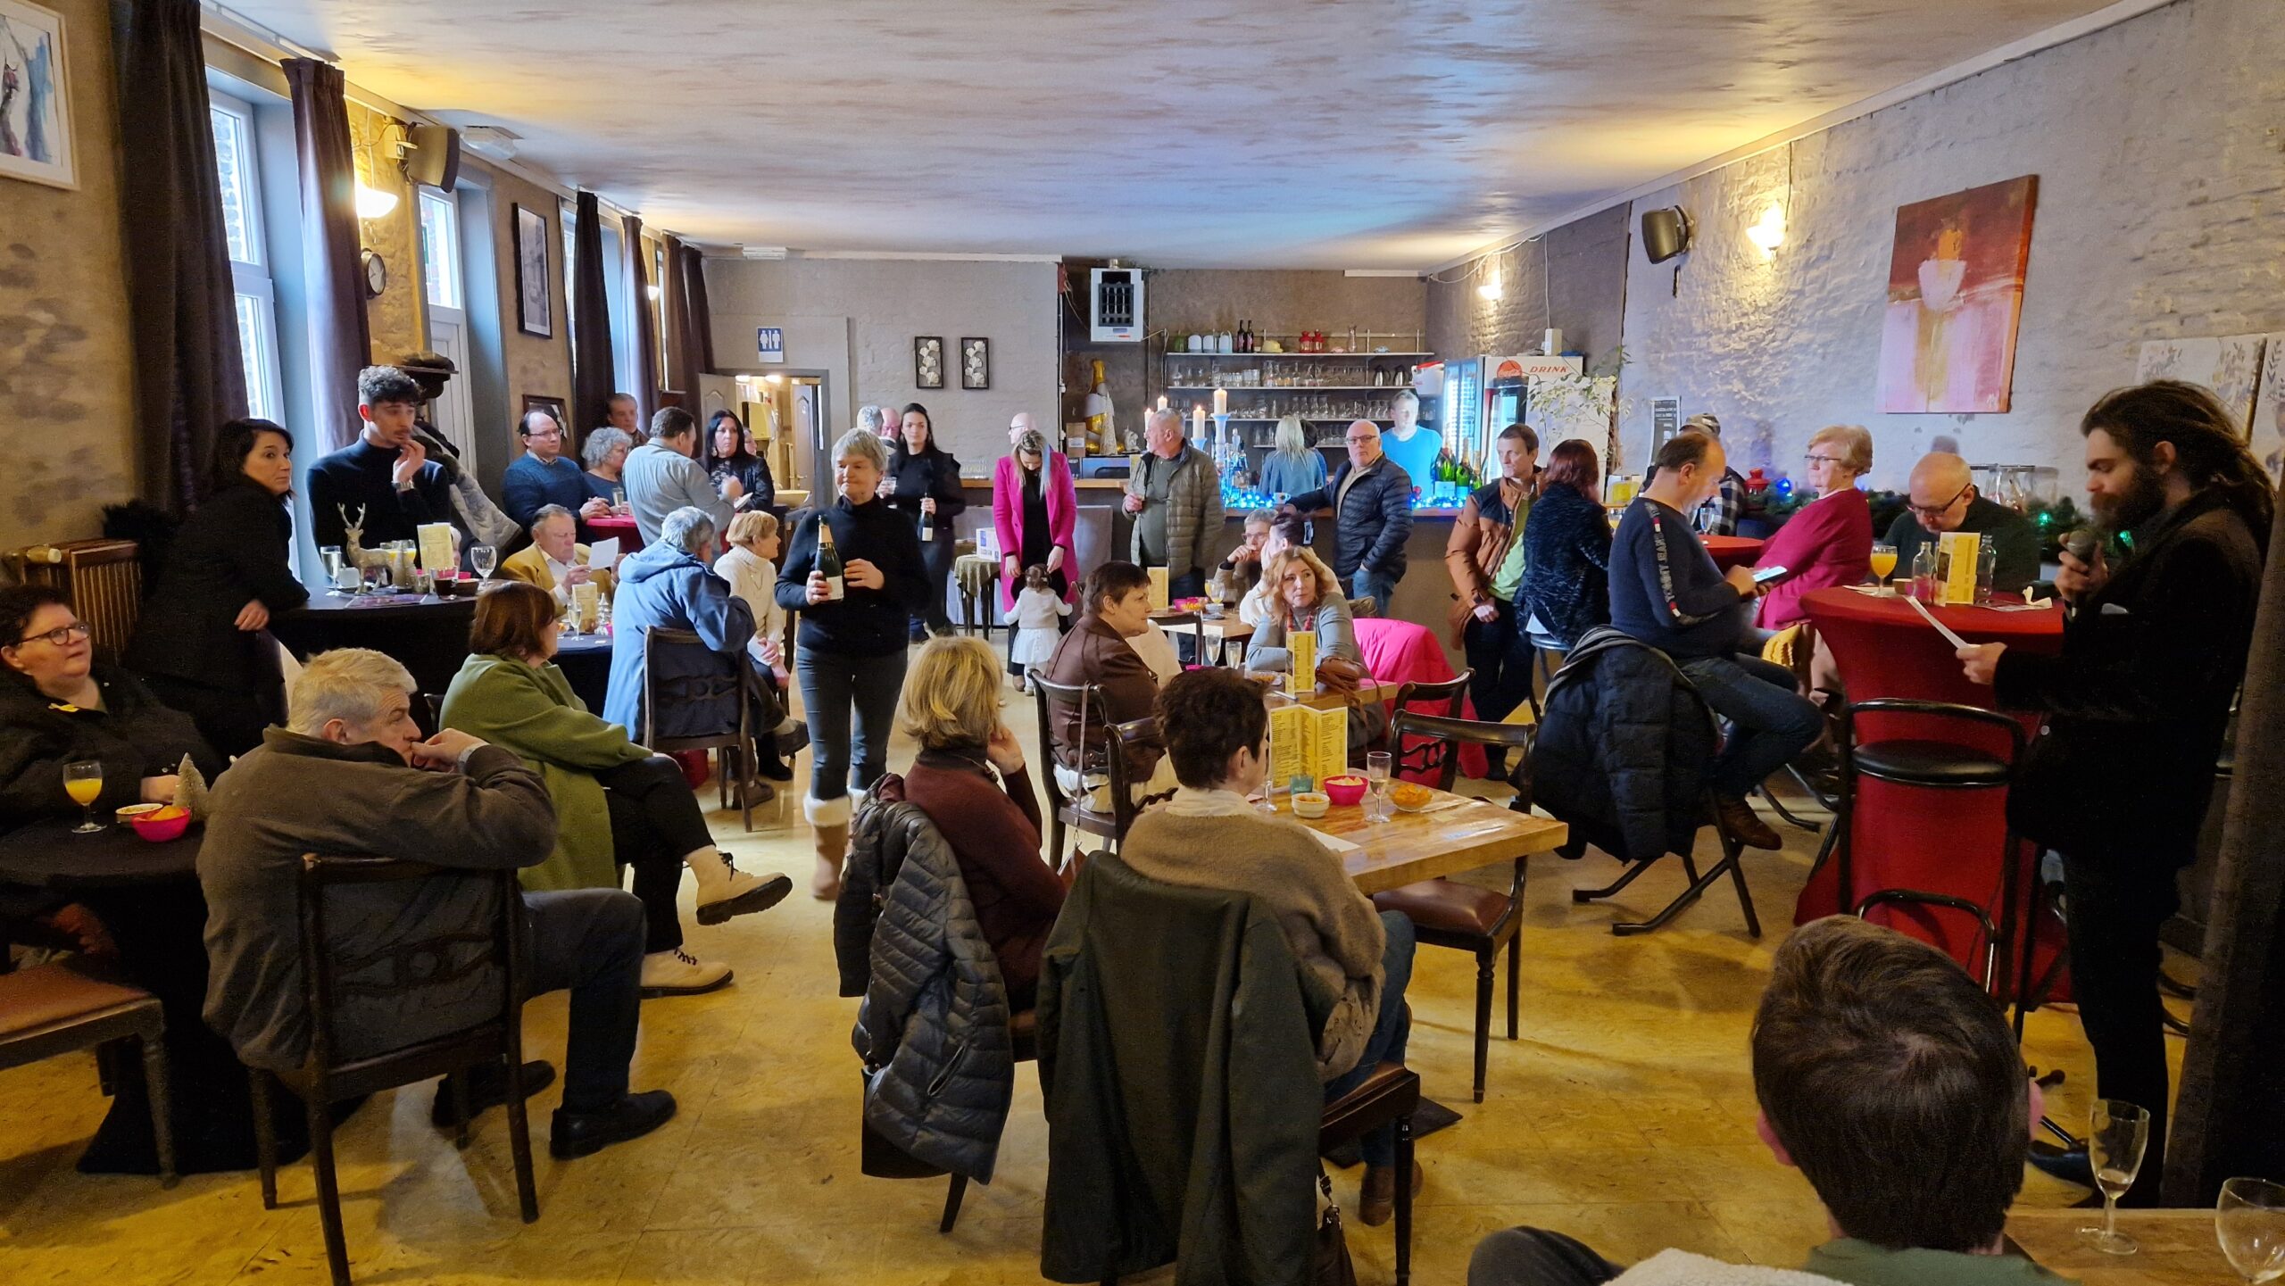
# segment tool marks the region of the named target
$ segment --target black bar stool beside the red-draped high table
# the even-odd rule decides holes
[[[1858,715],[1917,715],[1929,720],[1954,720],[1963,724],[1981,724],[2002,729],[2006,733],[2009,754],[1999,758],[1983,749],[1961,742],[1933,740],[1933,738],[1887,738],[1858,742],[1855,720]],[[1933,893],[1926,889],[1876,889],[1865,898],[1855,898],[1855,884],[1851,879],[1851,815],[1855,813],[1855,783],[1858,777],[1871,777],[1874,781],[1892,781],[1897,786],[1917,786],[1922,790],[2006,790],[2015,781],[2015,765],[2022,763],[2025,733],[2022,722],[1997,710],[1983,710],[1979,706],[1961,706],[1954,701],[1910,701],[1899,697],[1883,697],[1876,701],[1855,701],[1842,706],[1842,729],[1839,729],[1839,797],[1835,799],[1833,829],[1837,836],[1833,859],[1839,886],[1842,909],[1851,916],[1865,916],[1871,907],[1906,902],[1919,907],[1942,907],[1974,916],[1977,927],[1983,930],[1983,989],[1997,994],[1999,980],[1999,948],[2002,943],[2015,943],[2015,934],[2029,937],[2029,916],[2022,916],[2018,925],[2018,889],[2015,889],[2015,831],[2006,829],[2002,841],[2002,866],[1999,866],[1999,916],[1993,921],[1990,907],[1956,898],[1951,893]],[[1853,900],[1853,902],[1851,902]],[[2025,943],[2025,971],[2029,971],[2029,943]],[[2015,1039],[2022,1039],[2022,1014],[2025,998],[2018,989],[2015,996]]]

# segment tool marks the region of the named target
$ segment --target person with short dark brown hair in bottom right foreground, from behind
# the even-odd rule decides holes
[[[1851,916],[1778,948],[1753,1016],[1755,1133],[1801,1170],[1833,1240],[1801,1270],[1663,1249],[1620,1270],[1547,1229],[1476,1245],[1467,1286],[2056,1286],[2006,1211],[2045,1108],[2006,1014],[1919,939]]]

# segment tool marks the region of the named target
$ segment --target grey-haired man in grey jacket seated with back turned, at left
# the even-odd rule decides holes
[[[555,847],[555,809],[539,774],[512,751],[462,731],[418,740],[395,660],[368,649],[313,658],[288,697],[288,726],[270,729],[215,783],[199,847],[206,891],[206,1023],[249,1067],[288,1071],[311,1048],[297,927],[302,854],[395,857],[496,873],[537,866]],[[564,1106],[548,1151],[587,1156],[663,1126],[665,1090],[631,1094],[642,978],[642,902],[619,889],[526,893],[530,994],[571,989]],[[398,959],[404,943],[466,934],[482,941],[498,916],[494,882],[432,875],[343,886],[327,898],[336,959],[356,973],[427,968],[430,982],[386,996],[347,991],[336,1012],[338,1058],[366,1058],[482,1023],[498,1012],[500,975],[480,948]],[[507,1096],[505,1067],[471,1076],[471,1110]],[[526,1069],[532,1092],[553,1074]],[[448,1124],[439,1103],[430,1119]]]

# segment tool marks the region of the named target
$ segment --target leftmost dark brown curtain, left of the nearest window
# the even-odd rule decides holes
[[[215,429],[247,413],[197,0],[114,7],[112,46],[121,167],[137,190],[121,217],[135,439],[146,496],[181,514],[206,491]]]

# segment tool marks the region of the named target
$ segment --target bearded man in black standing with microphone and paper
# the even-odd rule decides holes
[[[2157,932],[2178,907],[2175,873],[2196,857],[2276,498],[2230,413],[2194,384],[2109,393],[2079,432],[2095,516],[2132,553],[2118,566],[2100,548],[2063,553],[2061,656],[1981,644],[1961,662],[2002,708],[2047,715],[2009,822],[2063,859],[2095,1092],[2148,1108],[2150,1149],[2125,1204],[2155,1206],[2168,1106]],[[2091,1185],[2084,1156],[2075,1165]]]

